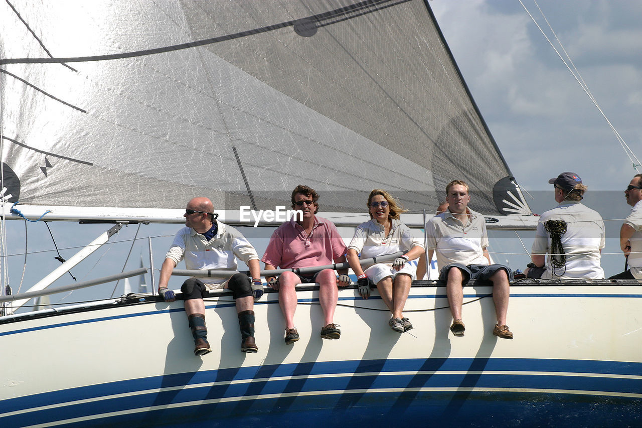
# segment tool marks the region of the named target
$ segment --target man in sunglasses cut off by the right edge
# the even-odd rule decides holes
[[[620,248],[629,269],[609,279],[642,280],[642,174],[633,177],[624,196],[627,204],[633,207],[620,228]]]

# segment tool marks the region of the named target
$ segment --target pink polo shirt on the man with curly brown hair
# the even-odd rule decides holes
[[[333,222],[315,215],[310,234],[294,218],[279,226],[268,244],[261,262],[281,269],[331,265],[347,252]]]

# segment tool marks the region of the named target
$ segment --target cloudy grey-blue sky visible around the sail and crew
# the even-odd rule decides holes
[[[577,66],[594,98],[633,152],[642,156],[642,3],[636,1],[522,0],[541,26],[546,26],[537,4]],[[560,172],[580,175],[589,187],[584,202],[598,210],[607,224],[607,247],[602,265],[607,275],[623,268],[617,242],[621,218],[630,207],[623,189],[636,174],[607,121],[568,71],[557,53],[535,26],[519,1],[431,0],[438,24],[482,116],[489,126],[518,183],[530,195],[526,199],[535,213],[553,208],[548,179]],[[552,37],[546,27],[547,34]],[[642,168],[640,169],[642,171]],[[29,251],[46,251],[27,259],[22,279],[25,233],[22,222],[8,222],[8,265],[14,293],[40,280],[60,262],[43,222],[27,224]],[[82,236],[74,224],[51,224],[56,245],[65,258],[110,226],[83,226]],[[153,236],[153,259],[159,267],[172,235],[180,225],[141,226],[138,237]],[[111,242],[72,269],[78,281],[111,274],[100,265],[132,270],[149,265],[148,241],[131,247],[138,226],[126,226]],[[259,254],[269,232],[253,240]],[[80,238],[80,239],[79,239]],[[499,262],[525,267],[532,240],[523,244],[514,233],[491,233]],[[131,253],[130,253],[131,251]],[[521,253],[521,254],[517,254]],[[129,256],[128,256],[129,254]],[[127,260],[127,262],[125,262]],[[35,268],[35,269],[34,269]],[[157,274],[156,274],[157,278]],[[180,287],[180,279],[173,279]],[[54,285],[73,280],[65,274]],[[138,279],[132,280],[136,286]],[[170,283],[171,284],[171,283]],[[114,285],[100,286],[101,296]],[[115,291],[123,292],[123,282]],[[96,290],[78,290],[73,296],[56,295],[52,301],[91,299]]]

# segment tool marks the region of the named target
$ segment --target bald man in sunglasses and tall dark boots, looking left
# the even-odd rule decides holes
[[[257,352],[254,340],[254,298],[263,294],[259,256],[245,236],[218,222],[212,201],[206,197],[196,197],[187,203],[185,226],[178,231],[169,247],[165,261],[160,268],[159,294],[165,301],[174,301],[176,296],[168,289],[171,272],[180,260],[185,259],[189,270],[229,270],[236,271],[236,257],[245,262],[252,274],[252,283],[247,275],[237,273],[229,278],[189,278],[180,291],[185,301],[187,321],[194,337],[195,355],[211,352],[207,342],[205,326],[205,303],[207,290],[227,288],[234,293],[236,312],[241,328],[241,351]]]

